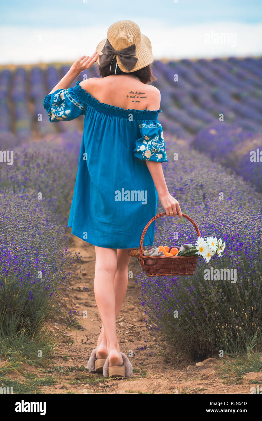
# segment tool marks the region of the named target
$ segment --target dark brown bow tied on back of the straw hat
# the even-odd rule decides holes
[[[119,56],[119,60],[129,71],[135,66],[138,61],[135,56],[135,44],[130,45],[127,48],[123,48],[120,51],[116,51],[112,45],[109,43],[109,40],[106,38],[106,43],[103,46],[101,52],[103,55],[99,57],[100,67],[106,67],[107,64],[111,63],[115,55]]]

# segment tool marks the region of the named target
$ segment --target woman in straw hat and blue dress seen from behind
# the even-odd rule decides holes
[[[78,81],[95,61],[101,77]],[[132,365],[120,352],[116,317],[127,290],[129,248],[138,248],[145,225],[156,215],[157,197],[167,216],[181,209],[168,192],[161,163],[167,161],[158,113],[160,92],[147,83],[151,43],[135,22],[109,27],[107,38],[91,57],[75,61],[45,97],[51,122],[85,115],[68,226],[72,234],[95,245],[95,299],[101,333],[88,369],[108,376],[132,376]],[[153,245],[154,222],[145,245]]]

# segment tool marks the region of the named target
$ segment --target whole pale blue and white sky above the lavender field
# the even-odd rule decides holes
[[[136,22],[154,59],[262,54],[261,0],[0,0],[0,64],[90,56],[119,20]]]

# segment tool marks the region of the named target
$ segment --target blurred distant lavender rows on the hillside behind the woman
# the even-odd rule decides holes
[[[0,141],[18,145],[53,134],[81,133],[81,118],[49,124],[42,99],[69,66],[0,72]],[[262,59],[154,61],[164,131],[188,141],[262,192]],[[85,77],[98,77],[95,67]],[[71,86],[73,86],[72,84]],[[251,151],[253,151],[252,158]]]

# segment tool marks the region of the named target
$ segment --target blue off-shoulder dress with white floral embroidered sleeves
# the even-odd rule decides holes
[[[72,234],[93,245],[138,248],[157,208],[157,190],[145,161],[167,161],[158,121],[161,110],[101,103],[80,82],[44,99],[52,123],[85,116],[68,226]],[[155,221],[143,246],[153,245],[154,232]]]

